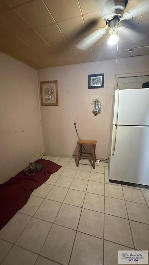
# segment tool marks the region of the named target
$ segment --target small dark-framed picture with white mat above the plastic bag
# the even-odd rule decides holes
[[[89,74],[88,89],[103,88],[104,74]]]

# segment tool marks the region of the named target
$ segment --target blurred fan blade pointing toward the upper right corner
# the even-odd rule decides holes
[[[123,19],[132,19],[135,16],[141,15],[142,11],[144,12],[149,11],[149,3],[147,5],[144,5],[144,3],[136,5],[130,10],[124,12]]]

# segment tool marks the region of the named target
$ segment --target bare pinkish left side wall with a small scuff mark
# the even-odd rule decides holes
[[[0,183],[42,152],[37,71],[0,52]]]

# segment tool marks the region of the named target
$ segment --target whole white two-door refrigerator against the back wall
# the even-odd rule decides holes
[[[149,185],[149,89],[115,92],[109,179]]]

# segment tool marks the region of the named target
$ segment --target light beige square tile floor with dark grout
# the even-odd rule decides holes
[[[118,250],[149,251],[149,189],[109,183],[104,162],[43,158],[62,168],[0,230],[0,264],[118,265]]]

